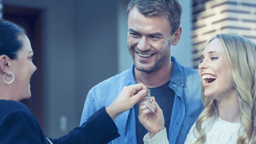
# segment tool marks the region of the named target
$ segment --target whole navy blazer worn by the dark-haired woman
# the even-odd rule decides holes
[[[54,144],[108,143],[120,137],[118,129],[105,110],[94,113],[87,122],[58,139],[48,138]],[[33,113],[26,105],[10,100],[0,100],[0,143],[49,144]]]

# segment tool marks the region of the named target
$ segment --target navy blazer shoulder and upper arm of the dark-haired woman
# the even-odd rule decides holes
[[[26,105],[0,100],[0,143],[46,143],[33,113]]]

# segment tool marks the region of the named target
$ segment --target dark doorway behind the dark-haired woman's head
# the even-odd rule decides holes
[[[29,107],[44,131],[42,14],[42,9],[3,5],[3,19],[19,24],[26,30],[34,51],[33,63],[37,71],[30,79],[31,98],[20,102]]]

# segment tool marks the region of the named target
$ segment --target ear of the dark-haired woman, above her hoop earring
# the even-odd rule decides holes
[[[11,75],[10,74],[11,65],[12,65],[11,59],[5,54],[2,54],[0,56],[0,70],[3,73],[7,73],[7,75]]]

